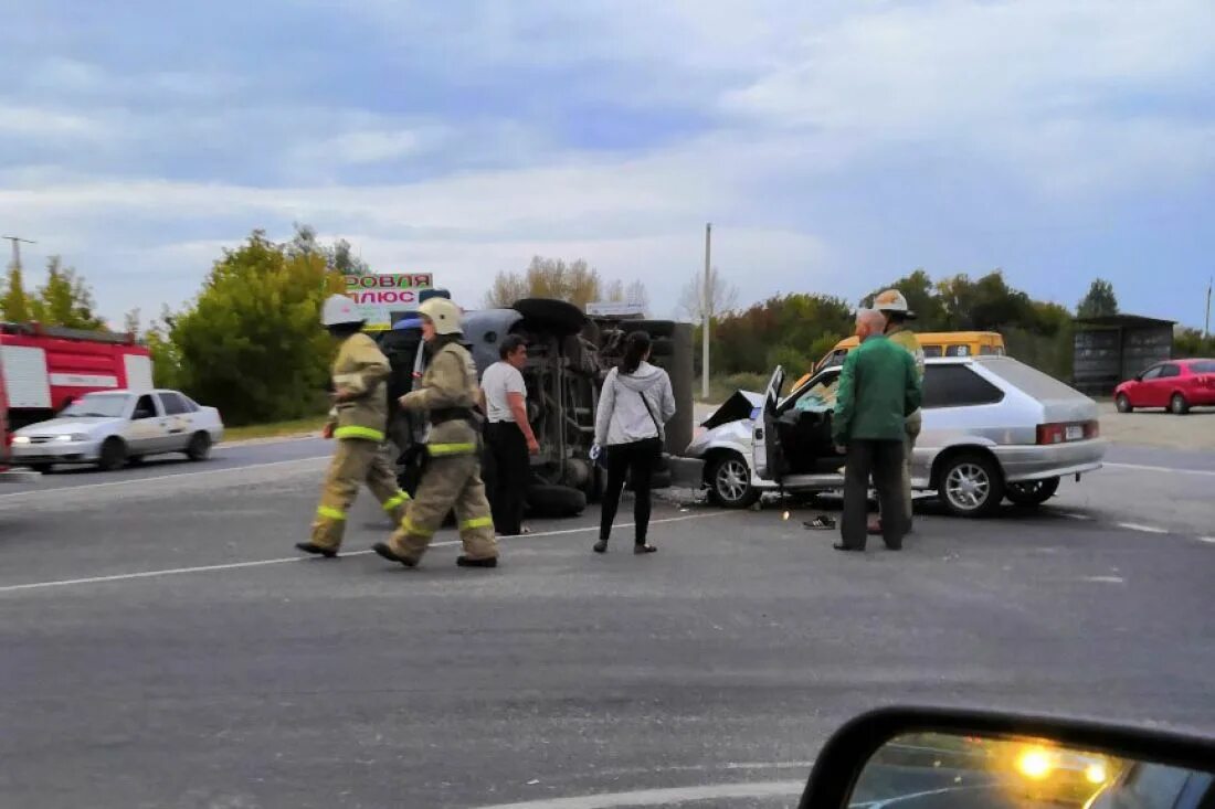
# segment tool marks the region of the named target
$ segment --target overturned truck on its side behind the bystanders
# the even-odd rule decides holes
[[[590,318],[565,301],[525,299],[510,309],[465,312],[464,344],[477,374],[498,361],[503,338],[518,334],[527,343],[527,418],[541,445],[531,458],[527,510],[532,516],[573,516],[597,502],[605,483],[603,470],[589,460],[595,437],[595,409],[608,372],[620,361],[625,336],[646,332],[654,340],[651,362],[666,369],[678,413],[666,429],[666,452],[682,452],[693,431],[691,327],[673,321]],[[389,383],[389,436],[395,445],[401,486],[417,486],[425,417],[401,411],[396,401],[420,379],[425,351],[420,323],[402,317],[397,328],[377,335],[392,366]],[[486,482],[495,469],[482,454]],[[671,474],[657,473],[655,486],[671,485]]]

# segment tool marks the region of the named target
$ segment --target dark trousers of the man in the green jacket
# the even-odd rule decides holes
[[[882,514],[882,539],[887,548],[902,548],[906,521],[903,514],[903,440],[854,440],[848,445],[843,473],[843,520],[840,533],[849,548],[864,548],[869,533],[869,477],[874,477]]]

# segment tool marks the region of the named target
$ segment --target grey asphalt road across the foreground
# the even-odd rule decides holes
[[[892,702],[1215,735],[1210,456],[928,508],[899,554],[665,504],[652,556],[627,528],[590,554],[588,514],[496,571],[446,532],[407,571],[366,553],[368,497],[349,555],[296,560],[326,449],[0,493],[0,805],[793,805],[830,731]]]

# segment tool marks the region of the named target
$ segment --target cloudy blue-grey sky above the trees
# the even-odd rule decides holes
[[[1210,0],[0,0],[0,231],[119,318],[293,221],[476,301],[535,254],[744,302],[1002,267],[1200,324]]]

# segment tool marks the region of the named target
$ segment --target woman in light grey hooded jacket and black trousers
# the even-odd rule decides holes
[[[645,541],[650,527],[650,480],[662,458],[663,425],[676,414],[676,397],[667,372],[651,366],[650,335],[633,332],[625,339],[620,366],[608,372],[595,413],[592,458],[608,453],[608,486],[599,514],[595,553],[608,550],[625,476],[633,485],[634,554],[652,554]]]

